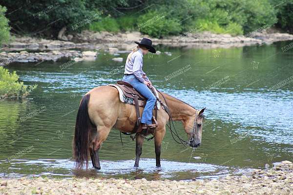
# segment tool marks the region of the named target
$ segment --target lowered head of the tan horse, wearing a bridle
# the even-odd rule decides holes
[[[185,132],[188,135],[189,146],[196,148],[201,144],[202,128],[204,120],[204,111],[206,108],[196,110],[193,116],[186,118],[183,121]]]

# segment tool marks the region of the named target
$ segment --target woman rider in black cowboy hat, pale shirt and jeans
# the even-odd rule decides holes
[[[150,39],[143,38],[141,42],[134,41],[137,45],[135,49],[127,56],[125,63],[125,71],[123,81],[130,83],[133,88],[142,94],[146,99],[146,106],[143,111],[141,123],[142,127],[154,128],[155,124],[152,124],[152,110],[155,106],[156,97],[150,91],[151,82],[147,78],[143,68],[143,55],[147,52],[156,53],[155,48],[151,46],[152,41]]]

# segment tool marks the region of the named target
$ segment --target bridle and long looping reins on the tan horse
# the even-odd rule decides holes
[[[157,98],[158,101],[159,101],[159,102],[162,104],[162,106],[164,107],[164,109],[165,109],[165,111],[167,112],[167,114],[169,115],[169,125],[170,125],[170,126],[168,126],[168,124],[167,124],[167,127],[170,129],[170,132],[171,132],[171,135],[172,135],[173,139],[174,139],[177,143],[179,143],[179,144],[183,144],[183,145],[186,147],[187,144],[189,145],[191,142],[194,141],[195,134],[197,133],[197,115],[198,115],[198,113],[199,113],[199,110],[196,110],[196,113],[195,113],[194,123],[193,123],[192,137],[190,137],[189,141],[185,141],[184,139],[182,139],[181,137],[179,137],[179,135],[178,135],[178,133],[177,133],[177,131],[176,131],[176,129],[175,129],[175,126],[174,126],[174,123],[173,123],[173,120],[172,120],[172,117],[171,117],[171,113],[170,113],[170,111],[169,111],[169,109],[168,109],[168,105],[167,105],[166,98],[164,97],[164,95],[163,95],[159,90],[157,90],[157,91],[163,96],[163,98],[164,98],[164,100],[165,100],[165,102],[166,102],[166,105],[165,105],[165,104],[162,102],[161,99]],[[172,125],[173,125],[174,130],[171,129],[171,122],[172,122]],[[175,139],[175,137],[174,137],[173,134],[175,135],[175,137],[177,137],[177,138],[179,139],[180,142],[177,141],[177,140]],[[186,147],[186,148],[187,148],[187,147]]]

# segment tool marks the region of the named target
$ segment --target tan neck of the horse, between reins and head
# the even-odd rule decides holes
[[[195,109],[180,99],[174,98],[166,93],[164,97],[167,101],[168,109],[171,113],[172,120],[184,120],[195,113]]]

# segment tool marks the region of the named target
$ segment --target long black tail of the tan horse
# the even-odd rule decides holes
[[[72,143],[73,158],[75,160],[75,166],[78,169],[83,168],[84,161],[86,162],[86,168],[88,166],[89,155],[89,135],[91,129],[91,122],[88,116],[87,104],[90,98],[90,94],[85,95],[82,98],[80,107],[76,117],[75,133]]]

